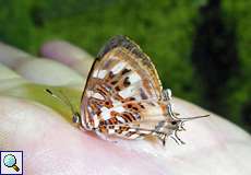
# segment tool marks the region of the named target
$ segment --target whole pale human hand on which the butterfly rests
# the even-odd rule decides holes
[[[43,90],[60,86],[79,105],[92,57],[62,40],[46,43],[45,58],[0,44],[0,150],[24,151],[24,174],[249,175],[251,137],[228,120],[180,98],[186,142],[110,142],[79,129],[70,109]],[[48,58],[48,59],[46,59]],[[175,93],[175,92],[174,92]]]

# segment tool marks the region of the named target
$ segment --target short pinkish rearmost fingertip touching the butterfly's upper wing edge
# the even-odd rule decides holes
[[[93,63],[93,57],[83,49],[63,40],[52,40],[44,44],[40,49],[44,57],[58,60],[87,77]]]

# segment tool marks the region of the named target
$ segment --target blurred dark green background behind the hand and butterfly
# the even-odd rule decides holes
[[[37,54],[61,38],[95,56],[127,35],[176,96],[251,131],[250,9],[250,0],[0,0],[0,40]]]

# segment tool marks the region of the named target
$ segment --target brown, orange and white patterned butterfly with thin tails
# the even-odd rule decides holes
[[[100,138],[156,137],[164,145],[168,137],[184,143],[177,136],[184,130],[183,124],[208,116],[178,118],[172,112],[171,91],[163,90],[150,57],[121,35],[112,37],[97,55],[80,108],[80,113],[73,112],[73,121]]]

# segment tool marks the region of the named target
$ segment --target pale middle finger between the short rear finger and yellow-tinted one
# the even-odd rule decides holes
[[[35,57],[14,47],[0,44],[0,62],[13,69],[24,79],[47,85],[82,86],[85,79],[69,67]]]

